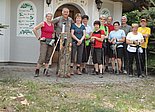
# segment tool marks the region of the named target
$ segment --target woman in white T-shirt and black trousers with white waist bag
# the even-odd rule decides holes
[[[128,44],[127,51],[129,55],[129,76],[133,76],[133,62],[136,61],[137,75],[142,76],[141,70],[141,55],[138,53],[143,52],[141,44],[144,42],[143,35],[138,32],[138,24],[132,24],[132,32],[128,33],[126,43]]]

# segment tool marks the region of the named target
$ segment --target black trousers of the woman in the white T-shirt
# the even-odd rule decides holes
[[[128,52],[129,55],[129,74],[133,74],[133,62],[134,59],[136,61],[136,68],[137,68],[137,74],[138,76],[140,76],[142,74],[142,70],[141,70],[141,54],[139,53],[139,57],[138,57],[138,53],[137,52]]]

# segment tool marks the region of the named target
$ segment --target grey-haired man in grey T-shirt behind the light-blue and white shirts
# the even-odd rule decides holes
[[[124,30],[125,34],[127,35],[129,32],[132,31],[132,28],[130,25],[127,24],[127,17],[126,16],[122,16],[122,23],[121,23],[121,29]],[[123,73],[127,74],[128,71],[128,52],[127,52],[127,44],[126,44],[126,39],[124,42],[124,59],[123,59]]]

